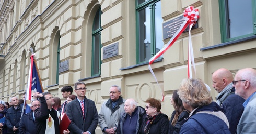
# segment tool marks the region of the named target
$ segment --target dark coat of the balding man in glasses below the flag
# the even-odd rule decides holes
[[[22,115],[19,123],[20,134],[33,134],[37,133],[36,124],[34,123],[33,111]]]

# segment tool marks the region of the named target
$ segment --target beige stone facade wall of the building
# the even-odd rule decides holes
[[[10,8],[3,10],[0,19],[2,37],[0,43],[5,43],[0,55],[0,96],[8,100],[10,96],[22,97],[28,79],[29,48],[35,46],[36,60],[42,84],[45,91],[62,98],[61,88],[71,85],[78,79],[90,77],[91,70],[91,27],[94,15],[99,6],[102,9],[101,26],[103,47],[119,43],[119,56],[102,60],[101,76],[86,79],[86,96],[95,101],[98,111],[101,103],[109,98],[109,87],[119,85],[124,98],[134,98],[139,106],[145,106],[149,97],[161,99],[160,88],[148,70],[148,65],[140,65],[131,69],[123,69],[136,64],[135,42],[135,0],[123,1],[32,1],[29,8],[17,9],[20,2],[10,1]],[[21,4],[21,3],[20,3]],[[22,4],[25,6],[26,4]],[[218,68],[227,68],[232,73],[238,69],[255,68],[255,41],[245,41],[224,47],[216,47],[201,51],[200,48],[221,43],[218,1],[169,1],[162,0],[162,18],[164,22],[179,17],[188,6],[199,9],[199,28],[191,31],[196,77],[201,78],[210,87],[212,73]],[[24,11],[22,14],[22,11]],[[8,12],[9,11],[9,12]],[[9,15],[8,15],[9,14]],[[6,20],[11,21],[11,14],[20,16],[18,22],[13,17],[8,35],[5,33]],[[2,26],[2,27],[1,27]],[[1,31],[1,29],[0,29]],[[69,59],[69,71],[59,76],[59,85],[54,83],[54,43],[56,34],[60,39],[60,60]],[[170,38],[165,39],[167,43]],[[0,46],[1,47],[1,46]],[[21,73],[22,52],[26,52],[25,73]],[[160,87],[165,91],[165,101],[162,102],[162,112],[169,117],[173,111],[170,97],[183,78],[187,77],[188,62],[188,32],[181,34],[173,46],[166,51],[163,60],[152,65]],[[101,53],[102,54],[102,53]],[[101,57],[101,59],[103,59]],[[14,63],[17,60],[17,72]],[[4,75],[5,71],[5,75]],[[16,75],[16,79],[13,79]],[[22,76],[21,76],[22,75]],[[26,79],[21,83],[21,79]],[[13,87],[13,82],[16,82]],[[23,86],[22,86],[23,85]],[[51,86],[51,87],[46,87]],[[1,93],[2,92],[2,93]],[[13,93],[12,93],[13,92]],[[211,95],[215,98],[217,92],[212,88]],[[64,100],[64,99],[62,99]],[[97,132],[100,132],[99,128]]]

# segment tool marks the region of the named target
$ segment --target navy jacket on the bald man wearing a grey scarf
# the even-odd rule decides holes
[[[228,119],[231,133],[236,133],[237,125],[243,113],[243,102],[245,102],[245,99],[235,95],[234,87],[231,90],[231,94],[222,103],[222,112]]]

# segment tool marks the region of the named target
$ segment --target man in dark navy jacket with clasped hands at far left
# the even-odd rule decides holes
[[[5,117],[7,133],[19,133],[18,128],[23,104],[19,104],[17,97],[11,97],[11,103],[13,106],[7,110]]]

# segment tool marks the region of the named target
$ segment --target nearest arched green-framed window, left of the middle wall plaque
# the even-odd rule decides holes
[[[92,26],[92,61],[91,76],[100,75],[101,65],[101,9],[99,8]]]

